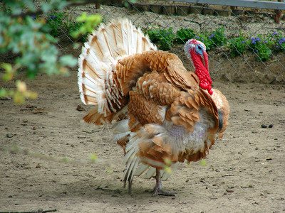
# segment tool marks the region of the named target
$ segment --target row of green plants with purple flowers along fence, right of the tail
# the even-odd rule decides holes
[[[248,37],[244,33],[239,33],[235,38],[227,38],[224,34],[224,28],[217,28],[212,32],[197,32],[192,29],[180,29],[176,34],[172,32],[172,28],[167,30],[155,29],[147,31],[150,40],[158,45],[161,50],[170,50],[172,45],[179,43],[184,44],[187,40],[195,38],[201,40],[207,50],[212,50],[220,46],[227,46],[230,55],[236,57],[244,55],[247,51],[252,51],[257,55],[257,60],[269,60],[273,51],[285,51],[285,37],[280,33],[273,33],[266,37],[265,35],[257,35],[257,37]]]

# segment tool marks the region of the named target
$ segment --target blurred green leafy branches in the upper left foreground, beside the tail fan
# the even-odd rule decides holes
[[[56,46],[58,38],[55,37],[62,30],[70,33],[78,29],[81,32],[83,26],[93,25],[94,28],[100,22],[99,16],[86,18],[86,23],[66,18],[61,11],[68,6],[67,0],[38,1],[38,4],[36,7],[33,0],[3,0],[0,3],[0,54],[15,55],[16,58],[11,64],[0,65],[4,69],[3,80],[12,80],[19,69],[24,70],[29,78],[36,77],[39,72],[68,74],[68,67],[75,66],[77,59],[60,55]],[[19,103],[25,98],[36,97],[23,88],[26,88],[24,82],[19,83],[16,90],[1,88],[0,97],[11,96]]]

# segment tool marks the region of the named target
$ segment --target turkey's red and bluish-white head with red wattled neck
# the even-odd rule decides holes
[[[185,44],[184,50],[187,57],[191,59],[195,73],[199,77],[199,86],[202,89],[207,89],[209,94],[213,94],[206,46],[199,40],[190,39]]]

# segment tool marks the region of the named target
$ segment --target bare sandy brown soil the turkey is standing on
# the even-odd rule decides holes
[[[123,188],[123,151],[109,127],[81,123],[86,111],[76,109],[76,74],[28,81],[38,99],[25,105],[0,100],[0,146],[18,147],[0,152],[0,212],[285,211],[284,85],[214,81],[231,107],[224,138],[209,151],[206,165],[181,164],[162,182],[175,197],[151,197],[153,179],[136,177],[132,195]],[[0,85],[11,88],[14,82]],[[98,161],[90,163],[93,153]]]

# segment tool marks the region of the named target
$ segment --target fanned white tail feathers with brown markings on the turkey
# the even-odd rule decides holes
[[[113,79],[115,65],[120,58],[145,50],[157,50],[150,39],[135,28],[127,18],[116,19],[108,25],[101,24],[97,31],[88,35],[84,43],[78,63],[78,86],[81,101],[84,104],[98,105],[97,113],[84,119],[88,123],[100,124],[100,120],[108,117],[108,121],[123,109],[128,94],[123,94],[120,81]],[[126,82],[128,84],[128,82]]]

